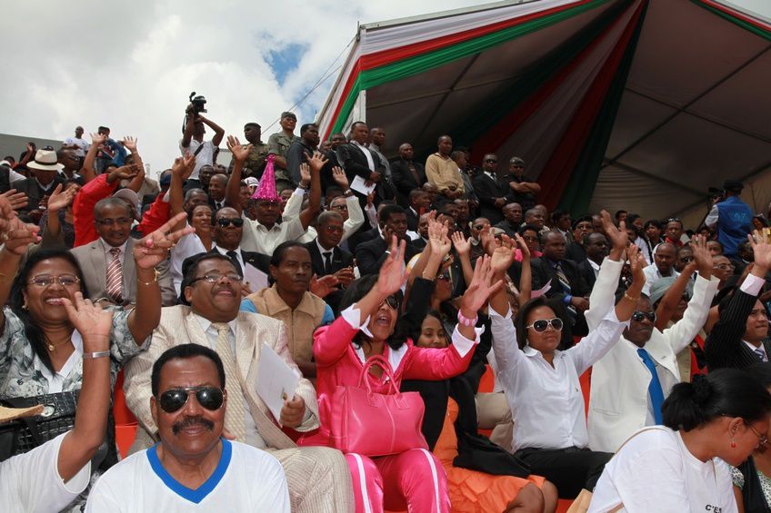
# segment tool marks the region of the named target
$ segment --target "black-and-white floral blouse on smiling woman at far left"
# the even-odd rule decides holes
[[[137,346],[128,329],[128,315],[120,307],[109,307],[114,311],[113,328],[110,331],[110,380],[115,387],[115,376],[140,351],[146,350],[148,340]],[[49,393],[49,381],[45,377],[45,365],[35,355],[32,345],[26,340],[24,323],[9,308],[4,309],[5,330],[0,334],[0,398],[35,397]],[[75,352],[82,353],[80,334],[73,333]],[[83,382],[83,360],[75,355],[73,363],[68,360],[61,371],[66,370],[63,391],[80,390]]]

